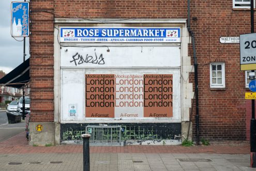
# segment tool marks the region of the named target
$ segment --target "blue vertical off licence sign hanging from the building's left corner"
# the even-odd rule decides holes
[[[12,2],[11,3],[11,36],[28,37],[29,36],[29,3]]]

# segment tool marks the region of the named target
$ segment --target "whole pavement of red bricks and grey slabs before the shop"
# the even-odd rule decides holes
[[[91,146],[90,170],[256,170],[249,142],[209,146]],[[25,132],[0,143],[0,170],[83,170],[83,145],[29,146]]]

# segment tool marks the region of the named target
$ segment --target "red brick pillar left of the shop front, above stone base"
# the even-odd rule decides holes
[[[53,122],[54,1],[30,2],[31,121]]]

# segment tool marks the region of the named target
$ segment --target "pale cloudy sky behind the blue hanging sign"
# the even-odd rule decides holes
[[[0,6],[0,71],[6,74],[23,62],[23,41],[16,41],[11,37],[11,2],[24,1],[1,1]],[[27,1],[28,2],[28,1]],[[16,38],[23,40],[23,38]],[[26,38],[25,54],[29,57],[29,38]]]

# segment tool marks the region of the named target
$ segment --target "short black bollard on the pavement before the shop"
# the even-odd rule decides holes
[[[90,171],[90,148],[89,139],[90,134],[82,134],[83,138],[83,171]]]

